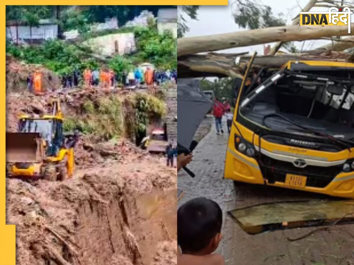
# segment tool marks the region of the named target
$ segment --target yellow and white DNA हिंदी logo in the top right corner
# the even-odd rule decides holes
[[[331,7],[328,12],[300,12],[300,25],[348,25],[350,34],[350,16],[353,12],[349,7]]]

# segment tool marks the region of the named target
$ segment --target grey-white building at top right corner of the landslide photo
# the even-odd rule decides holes
[[[177,8],[162,8],[157,14],[157,27],[161,34],[164,30],[172,31],[177,38]]]

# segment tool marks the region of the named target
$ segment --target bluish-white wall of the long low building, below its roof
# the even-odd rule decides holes
[[[30,27],[18,26],[18,40],[20,42],[27,42],[30,40]],[[32,27],[33,40],[49,40],[56,39],[58,36],[58,25],[40,25],[39,27]],[[6,27],[6,38],[16,42],[16,26]]]

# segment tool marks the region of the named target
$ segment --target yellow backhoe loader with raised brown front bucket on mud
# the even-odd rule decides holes
[[[60,101],[51,101],[52,113],[19,116],[18,131],[6,133],[6,175],[49,181],[73,176],[74,146],[79,133],[64,136]]]

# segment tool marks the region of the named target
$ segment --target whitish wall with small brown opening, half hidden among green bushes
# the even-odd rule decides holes
[[[124,55],[136,51],[134,33],[104,35],[87,40],[84,45],[90,46],[93,51],[105,56]]]

